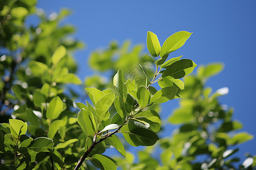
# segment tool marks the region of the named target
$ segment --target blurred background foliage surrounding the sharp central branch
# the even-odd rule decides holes
[[[0,1],[0,168],[73,169],[85,150],[75,101],[87,97],[67,84],[100,90],[112,88],[113,75],[123,69],[127,78],[144,85],[145,74],[150,78],[154,75],[155,61],[143,53],[141,45],[131,47],[129,41],[122,45],[113,41],[108,48],[90,54],[89,64],[98,74],[82,83],[75,74],[77,63],[73,53],[85,44],[72,39],[75,27],[61,23],[71,12],[64,8],[59,14],[48,16],[35,5],[34,0]],[[26,24],[31,15],[38,17],[38,24]],[[234,156],[237,145],[253,137],[246,132],[236,133],[242,129],[241,122],[233,120],[232,108],[218,102],[218,97],[228,89],[212,92],[205,87],[207,79],[222,69],[221,63],[212,63],[200,66],[196,75],[187,76],[185,90],[180,92],[180,107],[168,119],[178,128],[155,146],[138,153],[126,152],[126,158],[113,158],[118,167],[253,169],[255,156],[247,154],[242,161]],[[101,73],[108,73],[109,77]],[[53,100],[60,103],[60,108],[53,108],[60,112],[49,117],[47,108],[53,107]],[[160,110],[158,104],[151,107]],[[16,131],[15,127],[24,129]],[[103,153],[108,147],[98,147],[97,152]],[[83,166],[94,168],[88,161]]]

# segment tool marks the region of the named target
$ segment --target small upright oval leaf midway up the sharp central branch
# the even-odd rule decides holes
[[[144,108],[147,106],[148,101],[150,101],[150,92],[146,89],[146,87],[141,86],[137,91],[137,99],[139,106]]]

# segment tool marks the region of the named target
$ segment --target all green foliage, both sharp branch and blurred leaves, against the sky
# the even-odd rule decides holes
[[[211,94],[204,88],[222,65],[200,67],[197,76],[187,76],[197,66],[191,59],[168,59],[192,33],[176,32],[161,46],[148,32],[147,48],[156,60],[143,54],[141,45],[129,50],[129,42],[112,42],[108,49],[93,52],[90,65],[111,70],[113,81],[99,75],[86,78],[90,101],[81,101],[85,96],[67,86],[82,84],[72,52],[83,44],[68,38],[74,27],[60,24],[70,12],[46,16],[36,9],[36,1],[0,4],[1,169],[232,168],[237,159],[229,156],[237,149],[230,146],[252,138],[248,133],[230,137],[242,125],[232,119],[232,109],[218,103],[225,89]],[[35,12],[39,23],[28,27],[26,19]],[[153,87],[156,83],[159,87]],[[179,131],[159,139],[159,104],[181,96],[181,107],[169,118],[182,124]],[[81,102],[75,104],[77,100]],[[135,147],[162,148],[160,163],[148,149],[139,151],[139,163],[134,163],[122,139]],[[123,158],[104,155],[109,147]],[[201,154],[209,159],[193,161]],[[253,156],[248,157],[241,168],[255,165]]]

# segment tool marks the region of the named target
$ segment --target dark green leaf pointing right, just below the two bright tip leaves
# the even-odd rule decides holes
[[[180,59],[168,66],[162,77],[171,76],[175,79],[180,79],[192,73],[196,66],[191,59]]]

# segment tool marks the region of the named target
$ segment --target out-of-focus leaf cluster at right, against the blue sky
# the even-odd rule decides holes
[[[186,76],[180,107],[168,118],[171,124],[179,124],[179,129],[171,137],[160,139],[159,146],[139,151],[139,163],[116,159],[119,165],[123,169],[238,169],[240,158],[233,154],[238,151],[237,145],[253,139],[253,135],[236,133],[242,129],[241,122],[233,120],[232,108],[219,103],[218,97],[227,94],[228,88],[212,93],[212,88],[205,87],[206,80],[222,69],[221,63],[211,63],[200,66],[197,75]],[[153,155],[159,149],[160,159],[155,159]],[[254,169],[256,156],[246,157],[239,169]]]

